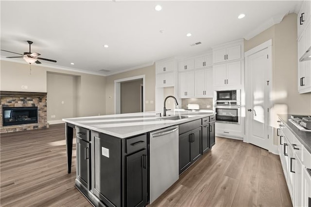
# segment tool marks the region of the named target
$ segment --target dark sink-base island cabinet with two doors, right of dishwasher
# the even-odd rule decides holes
[[[179,125],[179,174],[183,173],[202,154],[202,129],[201,120],[190,121],[185,132],[184,124]],[[189,127],[191,126],[191,127]]]

